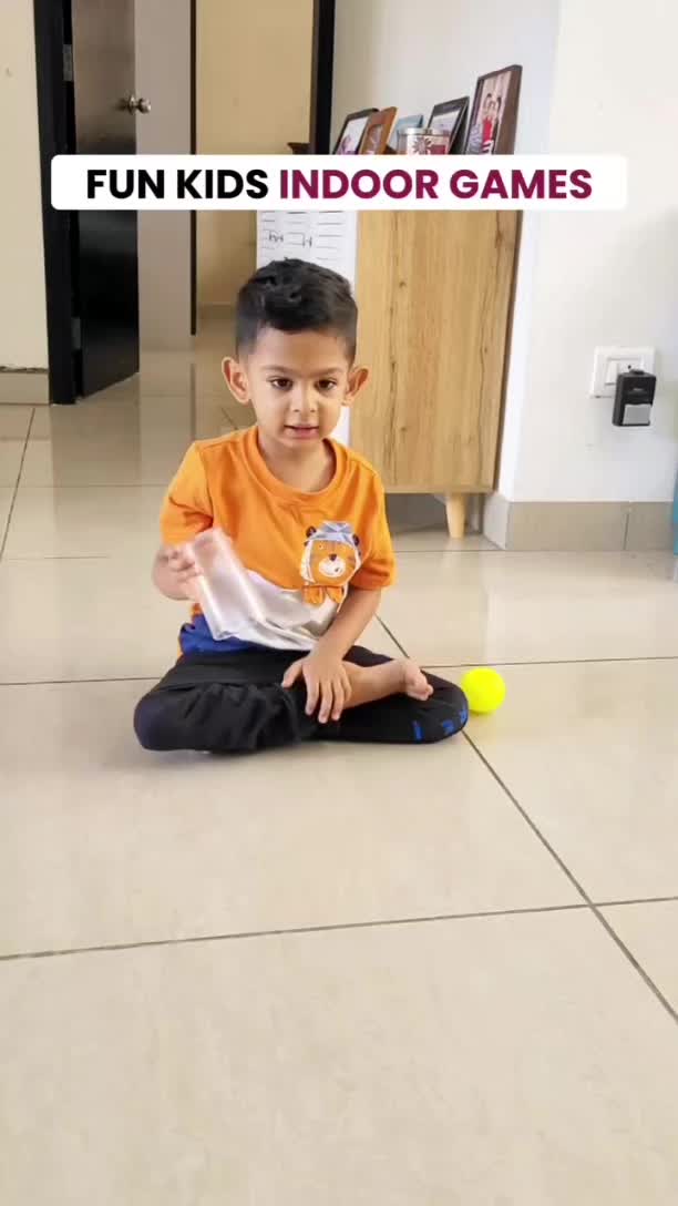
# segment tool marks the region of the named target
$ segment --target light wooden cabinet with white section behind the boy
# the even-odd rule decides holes
[[[370,382],[341,434],[388,492],[464,499],[493,488],[519,215],[262,212],[258,264],[297,257],[346,276]]]

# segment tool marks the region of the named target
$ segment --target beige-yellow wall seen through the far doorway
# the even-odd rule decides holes
[[[198,0],[198,151],[287,154],[309,136],[312,0]],[[198,215],[198,299],[230,305],[255,270],[252,212]]]

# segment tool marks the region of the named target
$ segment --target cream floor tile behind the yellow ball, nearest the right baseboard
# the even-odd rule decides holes
[[[382,615],[428,666],[678,656],[664,554],[413,554]]]

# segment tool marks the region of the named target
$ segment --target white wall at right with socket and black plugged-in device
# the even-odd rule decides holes
[[[519,499],[661,502],[678,463],[678,6],[562,0],[553,151],[629,156],[621,213],[542,219],[520,438],[501,488]],[[612,426],[588,397],[594,347],[657,350],[653,426]]]

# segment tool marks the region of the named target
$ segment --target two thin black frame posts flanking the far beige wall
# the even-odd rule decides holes
[[[191,154],[198,153],[198,2],[191,0]],[[309,147],[329,154],[337,0],[314,0]],[[191,334],[198,330],[198,215],[191,211]]]

